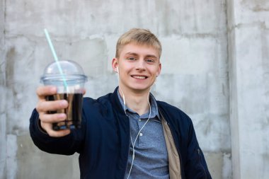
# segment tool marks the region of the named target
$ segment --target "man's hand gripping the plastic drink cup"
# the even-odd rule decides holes
[[[67,100],[50,100],[47,101],[46,96],[55,95],[57,88],[55,86],[40,86],[37,91],[38,104],[36,110],[38,111],[40,118],[40,125],[47,134],[51,137],[63,137],[70,133],[70,129],[62,129],[55,131],[52,129],[52,123],[60,122],[67,118],[64,113],[49,114],[48,111],[55,111],[67,108]]]

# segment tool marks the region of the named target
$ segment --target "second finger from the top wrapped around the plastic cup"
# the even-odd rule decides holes
[[[61,110],[68,107],[67,100],[40,101],[36,106],[38,112]]]

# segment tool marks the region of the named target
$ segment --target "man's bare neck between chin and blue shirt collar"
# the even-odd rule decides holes
[[[149,90],[139,93],[138,91],[128,91],[120,88],[119,92],[122,99],[124,93],[125,103],[131,110],[139,115],[144,115],[149,111]]]

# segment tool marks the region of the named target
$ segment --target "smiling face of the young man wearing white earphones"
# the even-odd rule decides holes
[[[158,50],[135,42],[122,47],[118,58],[113,59],[112,66],[119,72],[120,88],[135,93],[149,93],[161,72]]]

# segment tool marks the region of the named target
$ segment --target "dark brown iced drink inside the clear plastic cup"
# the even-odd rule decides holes
[[[78,129],[81,127],[82,93],[58,93],[47,96],[46,100],[67,100],[68,107],[62,110],[49,111],[49,114],[65,113],[67,119],[62,122],[53,123],[52,129]]]

